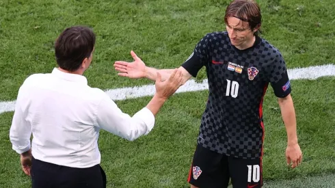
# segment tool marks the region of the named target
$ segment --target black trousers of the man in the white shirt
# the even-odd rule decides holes
[[[66,167],[33,157],[30,174],[32,188],[106,187],[106,174],[100,165],[88,168]]]

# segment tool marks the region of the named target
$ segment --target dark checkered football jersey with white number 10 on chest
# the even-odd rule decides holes
[[[205,66],[209,81],[198,144],[233,157],[260,157],[267,86],[270,83],[278,97],[291,92],[280,51],[259,37],[254,46],[239,50],[227,32],[208,33],[182,66],[193,77]]]

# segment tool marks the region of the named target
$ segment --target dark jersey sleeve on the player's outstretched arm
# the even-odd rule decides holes
[[[205,66],[206,62],[209,59],[209,38],[211,34],[206,34],[199,42],[196,44],[193,53],[189,58],[181,65],[187,72],[189,72],[192,77],[198,75],[199,70],[202,66]]]

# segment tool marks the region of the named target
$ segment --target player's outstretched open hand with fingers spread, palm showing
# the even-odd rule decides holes
[[[114,63],[114,68],[117,70],[118,75],[122,77],[129,77],[131,79],[140,79],[146,77],[146,64],[137,57],[136,53],[131,51],[131,56],[133,56],[133,62],[122,62],[116,61]]]

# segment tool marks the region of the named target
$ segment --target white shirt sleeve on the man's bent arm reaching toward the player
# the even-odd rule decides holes
[[[131,117],[123,113],[109,96],[103,98],[96,114],[100,129],[130,141],[147,135],[155,125],[155,116],[148,108],[144,107]]]

